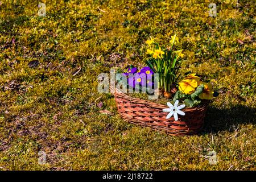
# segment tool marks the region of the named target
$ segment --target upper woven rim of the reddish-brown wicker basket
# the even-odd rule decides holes
[[[115,88],[113,85],[110,85],[110,90],[111,90],[111,93],[113,93],[115,96],[123,97],[123,98],[129,99],[130,101],[139,102],[140,104],[150,105],[151,107],[158,107],[159,109],[164,109],[164,108],[168,107],[167,105],[158,104],[156,102],[152,102],[152,101],[148,101],[148,100],[143,100],[142,98],[131,97],[131,96],[127,95],[126,93],[123,93],[121,90]],[[210,103],[209,100],[202,100],[202,101],[203,101],[203,103],[198,106],[185,107],[182,110],[183,111],[194,111],[194,110],[200,109],[202,107],[208,106]]]

